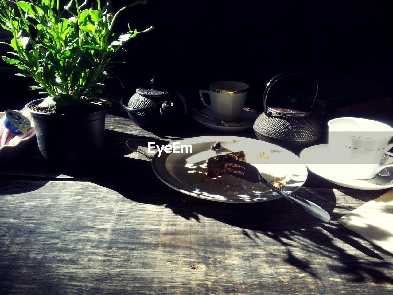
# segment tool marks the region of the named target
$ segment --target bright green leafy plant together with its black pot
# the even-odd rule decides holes
[[[86,8],[71,0],[0,0],[0,24],[12,33],[12,50],[4,61],[32,77],[46,97],[30,101],[42,155],[56,165],[72,166],[96,157],[103,147],[105,115],[110,102],[104,80],[112,74],[111,61],[118,50],[140,31],[116,36],[113,26],[121,11],[147,0],[137,0],[116,13],[108,4]],[[151,28],[143,31],[149,31]],[[113,74],[113,76],[116,76]]]

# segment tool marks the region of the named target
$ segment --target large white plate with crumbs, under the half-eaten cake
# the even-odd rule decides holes
[[[210,147],[220,140],[219,153],[244,151],[247,162],[257,166],[270,182],[280,181],[288,192],[298,190],[307,179],[305,164],[283,147],[256,139],[239,136],[202,136],[180,140],[180,145],[191,145],[192,153],[158,153],[152,167],[157,177],[171,188],[187,195],[219,202],[250,203],[278,199],[281,195],[266,191],[262,183],[249,183],[231,175],[209,179],[207,159],[217,155]],[[201,179],[208,179],[202,182]],[[235,194],[237,192],[237,194]]]

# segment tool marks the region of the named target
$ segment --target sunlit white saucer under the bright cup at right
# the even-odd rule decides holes
[[[307,147],[300,153],[300,159],[305,162],[310,171],[331,183],[345,186],[347,188],[356,188],[359,190],[383,190],[385,188],[393,187],[392,176],[382,176],[377,174],[373,179],[367,180],[351,179],[350,175],[343,176],[343,173],[340,173],[341,171],[337,171],[336,164],[329,164],[333,163],[334,160],[329,159],[327,144]]]

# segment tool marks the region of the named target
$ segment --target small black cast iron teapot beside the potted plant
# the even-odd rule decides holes
[[[120,105],[140,126],[161,126],[174,122],[185,113],[184,101],[173,90],[158,86],[154,77],[151,88],[137,88],[132,96],[125,95]]]

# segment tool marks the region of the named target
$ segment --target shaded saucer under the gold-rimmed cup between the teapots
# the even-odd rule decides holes
[[[198,109],[198,111],[203,112],[213,118],[216,116],[216,114],[209,108],[200,108]],[[239,123],[228,122],[224,123],[225,125],[223,126],[217,125],[212,119],[204,117],[203,115],[195,111],[192,112],[192,116],[200,124],[211,129],[225,132],[235,132],[250,129],[253,126],[255,119],[259,116],[259,112],[253,109],[244,108],[244,110],[239,116]]]

